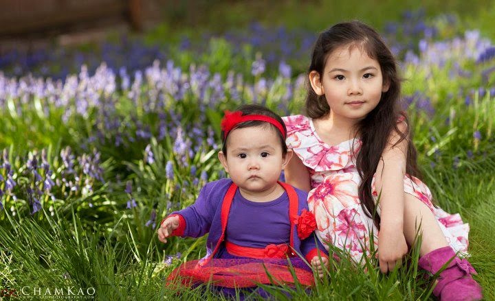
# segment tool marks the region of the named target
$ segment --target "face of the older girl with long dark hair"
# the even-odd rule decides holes
[[[323,74],[311,71],[309,80],[316,94],[325,95],[331,117],[353,123],[366,117],[388,91],[378,61],[355,46],[330,53]]]

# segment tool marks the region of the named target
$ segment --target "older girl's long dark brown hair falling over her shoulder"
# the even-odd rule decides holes
[[[406,154],[406,173],[409,176],[419,177],[417,169],[417,154],[409,131],[409,123],[406,115],[400,110],[401,79],[397,74],[397,62],[390,49],[386,47],[380,35],[368,25],[359,21],[338,23],[322,32],[318,37],[311,56],[309,72],[317,71],[320,78],[325,76],[325,62],[334,50],[339,47],[358,47],[380,64],[384,84],[388,84],[388,91],[382,93],[382,98],[371,112],[355,128],[355,134],[360,136],[362,147],[356,158],[356,168],[361,177],[358,188],[358,196],[364,213],[373,218],[375,226],[380,229],[380,216],[376,213],[375,201],[371,191],[371,182],[382,153],[389,143],[390,137],[397,133],[399,141],[408,141]],[[327,75],[328,76],[328,75]],[[320,118],[329,114],[330,107],[325,95],[317,95],[308,83],[308,95],[306,99],[306,113],[308,117]],[[406,131],[401,132],[397,128],[397,121],[404,116],[408,124]],[[377,175],[382,176],[382,175]],[[379,191],[380,193],[380,191]]]

